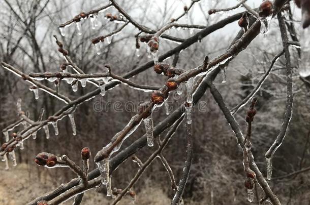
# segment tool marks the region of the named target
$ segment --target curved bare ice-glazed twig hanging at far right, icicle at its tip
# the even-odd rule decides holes
[[[293,109],[293,79],[292,79],[292,67],[290,61],[290,51],[289,51],[289,40],[285,27],[285,22],[281,13],[277,14],[277,19],[279,22],[279,27],[281,31],[282,44],[284,49],[285,56],[285,66],[286,66],[286,77],[287,77],[287,100],[285,107],[284,119],[282,122],[282,126],[279,134],[276,139],[268,149],[265,154],[266,162],[267,162],[267,179],[271,179],[272,176],[272,156],[274,152],[279,148],[285,138],[291,117],[292,117],[292,109]]]

